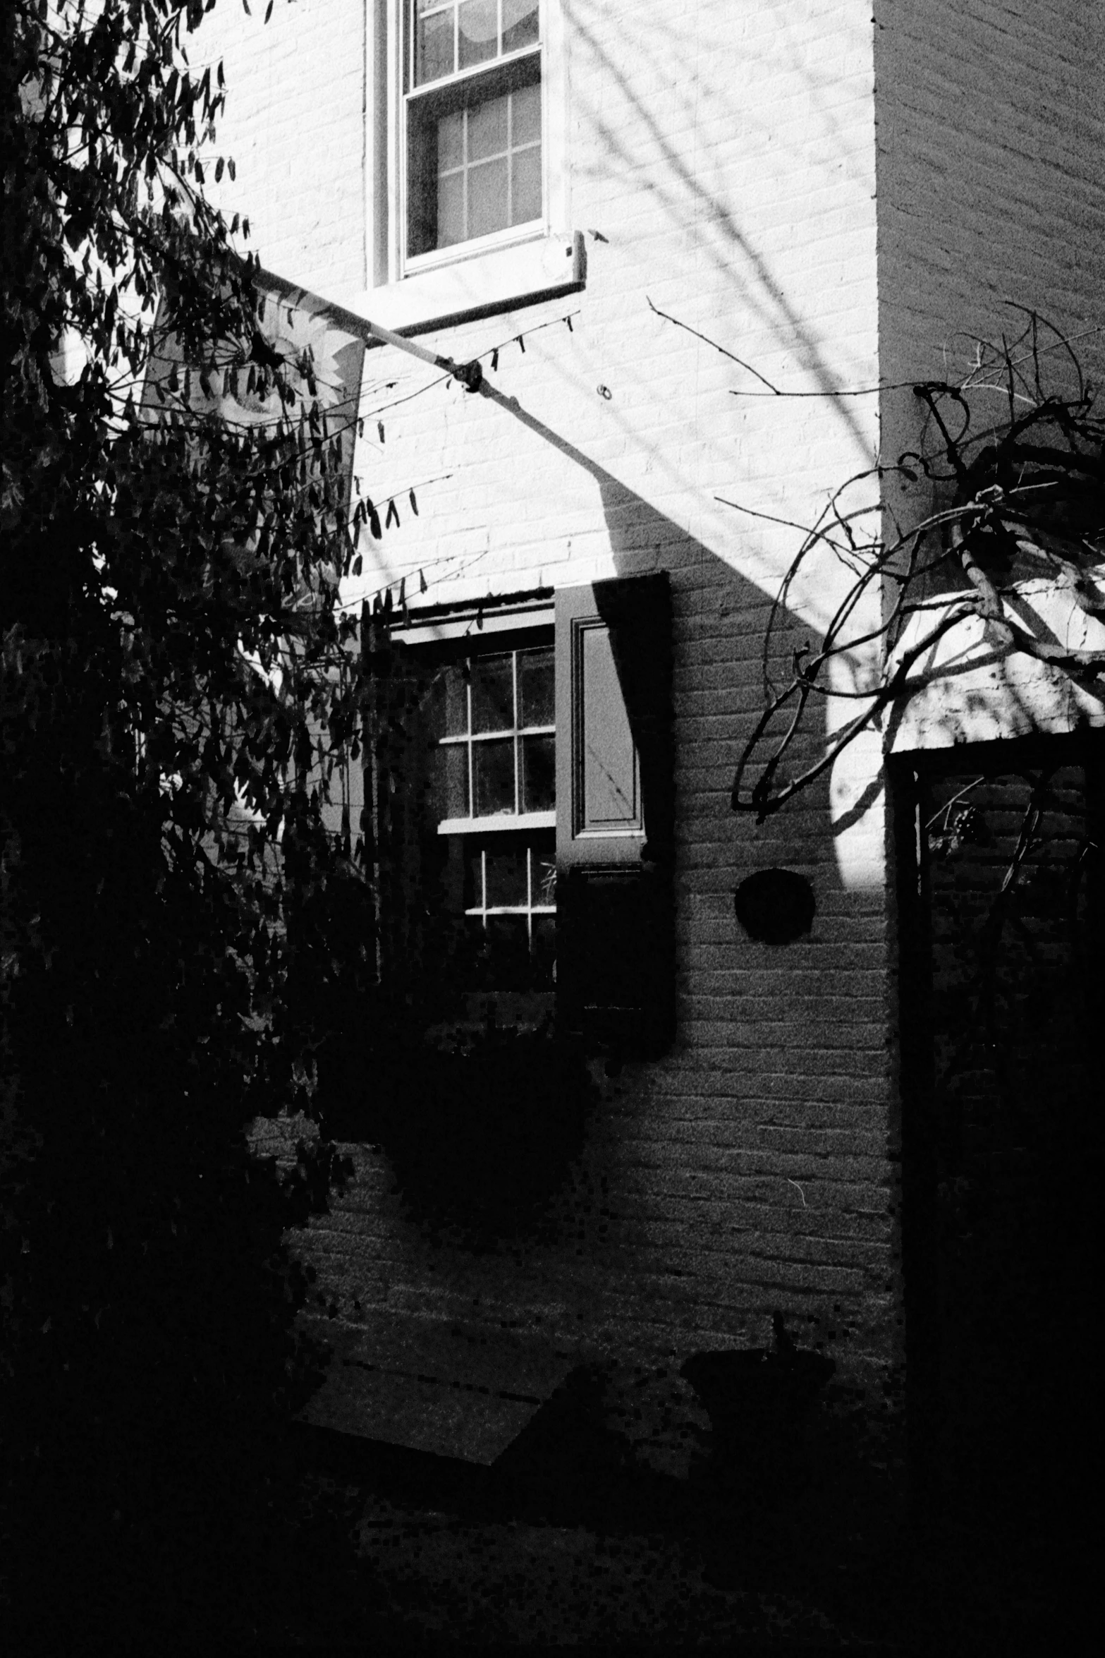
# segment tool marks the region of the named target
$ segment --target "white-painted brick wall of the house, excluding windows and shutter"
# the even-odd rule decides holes
[[[386,1302],[656,1353],[762,1341],[782,1307],[845,1368],[900,1356],[881,799],[852,852],[827,783],[762,827],[729,811],[797,534],[714,497],[810,522],[878,454],[878,400],[775,398],[750,370],[789,391],[918,378],[1001,295],[1090,317],[1102,56],[1077,0],[875,12],[873,27],[866,0],[563,0],[585,292],[427,338],[485,366],[502,345],[497,400],[366,355],[356,471],[403,526],[366,547],[364,592],[406,575],[417,594],[419,572],[429,600],[671,575],[679,1035],[620,1078],[555,1245],[444,1262],[358,1149],[358,1184],[310,1239],[343,1318]],[[232,88],[227,202],[265,265],[323,295],[366,280],[361,30],[356,0],[310,0],[268,32],[219,8],[207,36]],[[525,353],[509,343],[522,332]],[[898,441],[908,400],[881,418]],[[817,572],[795,627],[815,628],[838,584]],[[732,915],[737,880],[769,864],[817,894],[810,938],[787,948]]]

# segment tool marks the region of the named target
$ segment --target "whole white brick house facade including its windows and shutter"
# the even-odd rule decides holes
[[[596,1096],[537,1234],[432,1240],[388,1146],[351,1144],[308,1240],[331,1426],[490,1461],[575,1363],[764,1346],[775,1310],[871,1398],[898,1386],[883,739],[764,824],[729,793],[802,526],[916,444],[911,385],[1006,300],[1100,355],[1102,23],[1064,0],[873,10],[300,0],[267,25],[220,7],[199,36],[249,245],[364,325],[353,473],[384,522],[350,602],[386,599],[408,676],[437,675],[439,902],[528,950],[492,1016],[540,1020],[553,952],[565,995],[572,872],[646,865],[625,890],[653,933],[618,933],[618,897],[601,914],[615,980],[643,938],[664,975],[608,998],[636,995],[636,1025],[591,1031]],[[479,360],[484,388],[368,323]],[[825,560],[790,594],[795,642],[845,580]],[[757,942],[734,890],[779,867],[815,914]]]

